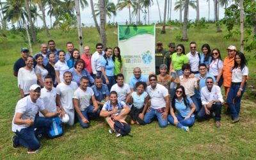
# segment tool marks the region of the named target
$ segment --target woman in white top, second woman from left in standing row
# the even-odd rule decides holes
[[[44,87],[44,78],[48,75],[48,70],[44,67],[44,57],[42,54],[36,54],[36,67],[35,67],[35,73],[37,77],[38,84],[41,86],[41,88]]]

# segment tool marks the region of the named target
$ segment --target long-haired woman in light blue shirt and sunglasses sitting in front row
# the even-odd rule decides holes
[[[195,123],[195,115],[193,114],[195,109],[195,104],[185,94],[184,86],[178,86],[172,99],[171,115],[168,115],[168,121],[188,132],[189,127]],[[175,114],[176,110],[178,111],[177,114]]]

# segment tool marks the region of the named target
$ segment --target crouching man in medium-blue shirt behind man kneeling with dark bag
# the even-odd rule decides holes
[[[102,108],[104,103],[109,100],[109,90],[107,84],[103,84],[102,78],[96,76],[92,90],[98,105],[100,108]]]

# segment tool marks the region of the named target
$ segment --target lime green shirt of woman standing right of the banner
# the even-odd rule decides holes
[[[185,54],[180,54],[180,56],[177,56],[177,52],[172,54],[172,66],[174,70],[180,70],[182,65],[188,62],[188,57]]]

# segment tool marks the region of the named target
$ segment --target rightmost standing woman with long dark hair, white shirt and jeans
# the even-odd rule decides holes
[[[246,88],[246,79],[249,72],[246,65],[247,61],[243,52],[237,52],[235,56],[235,65],[232,69],[232,86],[230,87],[227,97],[232,122],[238,122],[240,120],[239,113],[241,108],[241,99]]]

